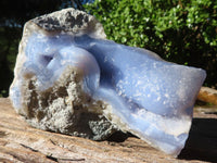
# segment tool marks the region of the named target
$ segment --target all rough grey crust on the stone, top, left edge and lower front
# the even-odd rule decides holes
[[[116,130],[110,120],[103,115],[106,106],[82,92],[82,73],[75,67],[66,68],[62,77],[43,92],[37,88],[35,74],[21,76],[27,61],[25,48],[33,33],[44,35],[67,34],[104,39],[102,25],[91,15],[75,9],[65,9],[42,15],[25,24],[18,55],[14,68],[15,84],[21,83],[21,108],[15,108],[34,127],[93,140],[103,140]]]

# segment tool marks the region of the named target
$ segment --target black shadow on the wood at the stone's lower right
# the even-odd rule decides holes
[[[216,118],[193,118],[189,138],[178,159],[217,162]]]

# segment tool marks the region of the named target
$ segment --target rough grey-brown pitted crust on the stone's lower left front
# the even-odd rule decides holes
[[[64,80],[63,80],[64,78]],[[91,99],[81,89],[82,74],[66,68],[54,87],[41,92],[36,78],[26,78],[23,115],[37,128],[93,140],[103,140],[116,129],[103,115],[106,103]]]

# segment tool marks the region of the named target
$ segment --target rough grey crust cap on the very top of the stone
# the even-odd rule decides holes
[[[47,32],[64,32],[67,34],[89,34],[105,38],[102,25],[86,12],[73,8],[46,14],[31,20],[33,23]]]

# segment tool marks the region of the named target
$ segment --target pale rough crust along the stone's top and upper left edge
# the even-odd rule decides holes
[[[102,24],[98,22],[94,16],[73,8],[30,20],[24,26],[14,68],[14,80],[11,87],[15,84],[23,64],[26,61],[25,48],[33,33],[42,33],[44,35],[67,34],[71,36],[81,36],[86,34],[93,38],[106,39]]]

